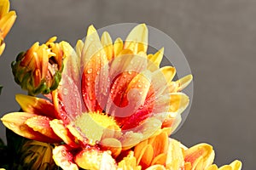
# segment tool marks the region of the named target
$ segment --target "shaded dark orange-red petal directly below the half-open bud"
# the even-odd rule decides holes
[[[55,107],[49,100],[24,94],[16,94],[15,99],[20,104],[22,111],[36,115],[55,117]]]

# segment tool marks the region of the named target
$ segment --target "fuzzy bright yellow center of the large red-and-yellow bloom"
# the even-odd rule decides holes
[[[90,144],[96,144],[96,141],[100,141],[104,130],[108,127],[118,127],[113,117],[101,112],[83,113],[77,117],[74,123],[81,129],[86,138],[90,140]]]

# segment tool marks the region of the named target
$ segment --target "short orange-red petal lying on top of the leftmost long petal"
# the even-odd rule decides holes
[[[56,142],[60,142],[61,139],[53,132],[52,128],[49,127],[49,118],[46,116],[33,116],[26,120],[25,124],[28,127],[32,127],[32,129],[38,133],[42,133],[50,139],[55,139]]]

